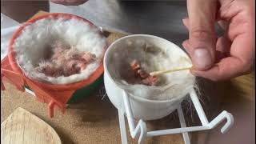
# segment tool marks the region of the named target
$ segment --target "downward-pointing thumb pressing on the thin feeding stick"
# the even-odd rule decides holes
[[[194,68],[198,70],[207,70],[214,64],[216,5],[214,0],[187,1],[190,33],[188,52]]]

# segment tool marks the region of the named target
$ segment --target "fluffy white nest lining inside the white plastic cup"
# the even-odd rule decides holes
[[[148,46],[153,46],[158,52],[154,54],[148,52],[146,50]],[[130,84],[129,80],[133,74],[130,62],[134,59],[141,62],[142,68],[148,73],[155,70],[192,66],[186,53],[167,41],[156,42],[154,38],[131,37],[126,38],[125,42],[117,42],[110,53],[108,70],[118,86],[134,97],[150,100],[185,98],[186,94],[194,87],[195,77],[190,74],[189,70],[162,74],[156,86]]]

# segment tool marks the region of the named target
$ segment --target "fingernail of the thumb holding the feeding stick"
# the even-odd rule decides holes
[[[192,58],[195,68],[198,70],[206,70],[212,65],[210,51],[207,49],[196,49]]]

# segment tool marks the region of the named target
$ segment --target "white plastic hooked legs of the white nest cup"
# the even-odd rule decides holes
[[[138,136],[138,143],[142,143],[146,137],[154,137],[154,136],[160,136],[160,135],[166,135],[166,134],[181,134],[182,133],[185,144],[190,144],[190,138],[189,138],[188,132],[214,129],[214,127],[216,127],[220,122],[222,122],[226,119],[226,124],[224,126],[222,126],[222,129],[221,129],[222,134],[224,134],[234,124],[234,118],[233,118],[232,114],[228,113],[226,110],[222,111],[221,114],[218,114],[218,116],[216,118],[214,118],[214,120],[212,120],[211,122],[208,122],[208,119],[206,118],[206,114],[205,114],[204,110],[202,109],[202,106],[198,100],[197,94],[195,93],[195,91],[193,89],[190,91],[190,98],[194,104],[195,110],[198,113],[198,117],[202,123],[202,126],[186,127],[186,122],[185,122],[184,114],[182,111],[182,106],[179,105],[177,110],[178,110],[178,118],[179,118],[181,128],[147,131],[146,123],[142,119],[139,120],[137,126],[135,127],[134,116],[133,116],[132,110],[130,108],[130,98],[128,97],[128,95],[126,94],[125,91],[123,91],[122,96],[123,96],[125,111],[123,111],[122,108],[118,109],[118,117],[119,117],[119,125],[120,125],[120,131],[121,131],[122,144],[127,143],[125,114],[126,114],[126,118],[128,121],[129,129],[130,129],[130,135],[132,138],[135,138],[136,136]]]

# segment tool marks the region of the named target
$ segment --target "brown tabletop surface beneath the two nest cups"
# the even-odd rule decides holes
[[[109,42],[122,37],[123,34],[110,33]],[[253,143],[255,142],[255,74],[231,79],[226,82],[210,82],[198,78],[198,85],[202,92],[202,106],[206,110],[209,120],[216,117],[222,110],[234,114],[234,127],[228,134],[221,134],[219,127],[215,130],[192,133],[192,143]],[[6,83],[6,82],[5,82]],[[47,105],[37,102],[30,94],[15,90],[14,86],[6,83],[6,90],[1,91],[1,122],[17,107],[22,107],[49,123],[62,138],[63,143],[121,143],[118,125],[118,111],[108,98],[101,98],[98,94],[86,98],[83,102],[71,104],[66,114],[55,110],[54,118],[49,118]],[[186,114],[189,126],[198,124],[197,115],[189,105]],[[176,114],[170,114],[158,121],[147,122],[150,129],[160,130],[178,127]],[[241,133],[242,132],[242,133]],[[241,133],[241,134],[240,134]],[[137,139],[130,138],[129,143],[137,143]],[[161,137],[147,138],[146,143],[181,144],[182,135],[174,134]],[[240,144],[239,143],[239,144]]]

